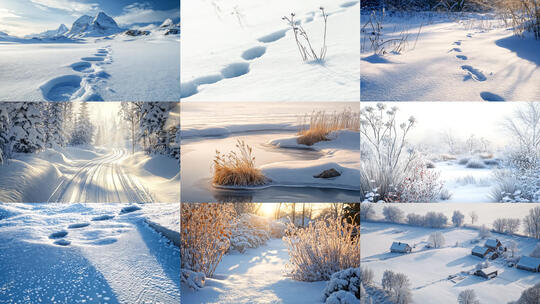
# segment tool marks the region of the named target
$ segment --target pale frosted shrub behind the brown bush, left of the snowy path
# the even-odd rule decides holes
[[[230,250],[244,252],[247,248],[257,248],[270,239],[270,219],[254,214],[241,214],[232,225]]]

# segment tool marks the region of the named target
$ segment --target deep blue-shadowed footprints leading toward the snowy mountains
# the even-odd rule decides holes
[[[103,65],[112,62],[110,45],[98,49],[94,56],[83,57],[70,65],[78,74],[60,76],[42,85],[43,97],[48,101],[103,101],[97,88],[111,77]]]

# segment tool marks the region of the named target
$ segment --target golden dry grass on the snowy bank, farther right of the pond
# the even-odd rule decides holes
[[[360,113],[353,112],[350,108],[333,113],[314,111],[304,115],[300,120],[302,127],[298,131],[300,137],[297,142],[306,146],[329,140],[328,134],[332,131],[360,130]]]

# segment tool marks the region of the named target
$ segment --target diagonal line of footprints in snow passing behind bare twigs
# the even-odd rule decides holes
[[[330,16],[330,15],[333,15],[333,14],[337,14],[337,13],[341,13],[341,12],[344,12],[346,8],[349,8],[349,7],[352,7],[356,4],[358,4],[359,2],[358,1],[349,1],[349,2],[345,2],[345,3],[342,3],[340,6],[342,7],[342,9],[340,10],[337,10],[335,12],[331,12],[331,13],[328,13],[327,15]],[[310,23],[312,22],[313,20],[315,20],[315,15],[317,13],[312,11],[312,12],[309,12],[309,13],[306,13],[306,17],[304,18],[303,21],[297,21],[299,24],[300,22],[304,22],[304,23]],[[319,15],[317,15],[317,17],[322,17],[322,15],[319,13]],[[278,40],[280,40],[281,38],[285,37],[285,35],[287,34],[287,32],[289,31],[290,29],[282,29],[282,30],[279,30],[277,32],[273,32],[271,34],[268,34],[268,35],[265,35],[265,36],[262,36],[262,37],[259,37],[257,40],[263,44],[270,44],[270,43],[273,43],[273,42],[276,42]],[[198,78],[195,78],[191,81],[188,81],[188,82],[185,82],[185,83],[182,83],[181,87],[182,87],[182,93],[181,93],[181,98],[187,98],[187,97],[190,97],[190,96],[193,96],[197,93],[199,93],[199,86],[201,85],[207,85],[207,84],[214,84],[214,83],[217,83],[223,79],[228,79],[228,78],[235,78],[235,77],[240,77],[240,76],[243,76],[245,74],[247,74],[249,72],[249,61],[253,61],[257,58],[260,58],[262,57],[265,53],[266,53],[266,49],[267,47],[264,46],[264,45],[259,45],[259,46],[255,46],[255,47],[252,47],[252,48],[249,48],[247,50],[245,50],[242,55],[240,57],[242,57],[242,59],[245,60],[245,62],[237,62],[237,63],[231,63],[227,66],[225,66],[219,74],[214,74],[214,75],[207,75],[207,76],[202,76],[202,77],[198,77]]]

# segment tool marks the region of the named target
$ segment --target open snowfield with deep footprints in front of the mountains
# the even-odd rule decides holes
[[[158,26],[139,36],[116,23],[109,29],[70,38],[0,36],[0,101],[179,101],[180,36]]]

